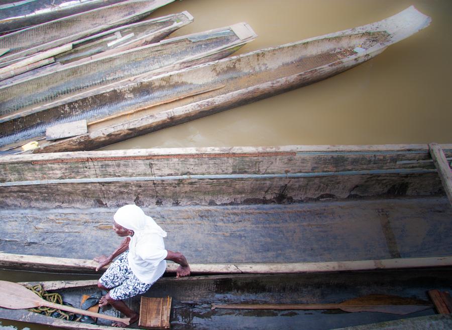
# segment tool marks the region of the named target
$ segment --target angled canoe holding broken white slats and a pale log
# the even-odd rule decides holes
[[[146,20],[138,23],[128,24],[119,28],[110,29],[96,35],[92,35],[71,43],[70,50],[56,54],[57,51],[41,52],[36,55],[27,57],[26,59],[14,64],[0,68],[0,79],[7,79],[0,82],[1,85],[15,83],[21,79],[30,79],[32,76],[42,75],[45,72],[57,70],[55,65],[60,66],[75,61],[88,61],[96,57],[106,56],[109,54],[119,53],[135,47],[146,46],[162,40],[177,29],[193,22],[193,16],[188,12],[167,15],[164,17]],[[51,54],[50,62],[42,61],[47,54]],[[49,58],[48,58],[49,59]],[[42,61],[36,64],[36,61]],[[53,65],[47,65],[54,63]],[[36,70],[42,65],[45,68]],[[26,66],[24,68],[24,66]],[[27,74],[20,74],[29,71],[28,67],[33,70]]]

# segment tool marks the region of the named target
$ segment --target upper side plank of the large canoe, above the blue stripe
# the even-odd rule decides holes
[[[354,146],[350,146],[353,148]],[[382,146],[383,147],[383,146]],[[426,146],[425,146],[426,147]],[[319,147],[320,149],[321,147]],[[452,148],[452,146],[451,146]],[[182,148],[53,156],[4,156],[0,182],[71,178],[199,174],[316,173],[385,169],[433,169],[427,150],[308,151],[280,148]],[[364,149],[364,148],[363,148]],[[452,157],[452,150],[446,150]]]

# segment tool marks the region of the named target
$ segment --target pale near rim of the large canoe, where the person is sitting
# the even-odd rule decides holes
[[[94,273],[95,263],[91,260],[57,257],[19,255],[0,252],[0,266],[13,270],[59,271],[66,273]],[[338,262],[291,262],[291,263],[236,263],[199,264],[190,263],[193,274],[289,274],[289,273],[336,273],[350,271],[391,270],[411,268],[432,268],[452,266],[452,256],[396,258],[378,260],[352,260]],[[175,274],[178,265],[168,263],[166,272]],[[104,268],[102,271],[104,271]],[[101,271],[101,272],[102,272]],[[100,272],[100,273],[101,273]],[[192,280],[193,277],[180,280]],[[170,280],[164,278],[163,280]],[[77,286],[96,285],[97,280],[78,281]],[[54,281],[47,284],[46,290],[72,286],[67,281]]]

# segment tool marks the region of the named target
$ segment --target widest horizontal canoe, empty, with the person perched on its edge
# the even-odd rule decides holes
[[[452,265],[452,207],[427,145],[9,155],[0,175],[3,268],[93,272],[128,203],[197,273]]]

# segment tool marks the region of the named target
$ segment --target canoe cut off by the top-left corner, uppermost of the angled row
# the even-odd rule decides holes
[[[0,5],[0,33],[53,21],[124,0],[6,0]]]

